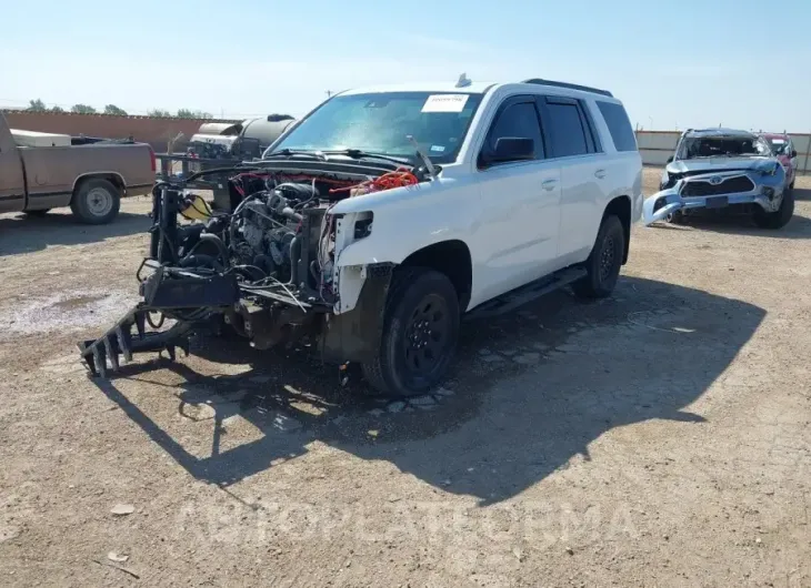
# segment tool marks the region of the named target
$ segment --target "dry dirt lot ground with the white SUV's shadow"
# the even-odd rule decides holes
[[[798,186],[782,231],[635,227],[613,297],[467,323],[409,403],[221,341],[89,379],[147,201],[0,216],[0,586],[811,586]]]

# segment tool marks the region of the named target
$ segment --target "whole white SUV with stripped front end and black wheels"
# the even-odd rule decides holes
[[[156,186],[154,273],[143,303],[80,344],[91,371],[173,349],[210,317],[258,348],[307,338],[379,391],[421,394],[444,377],[464,313],[567,284],[610,294],[642,210],[622,104],[545,80],[342,92],[227,173],[230,214]],[[147,336],[156,312],[176,323]]]

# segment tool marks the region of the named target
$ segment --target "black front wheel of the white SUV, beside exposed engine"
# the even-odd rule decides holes
[[[383,394],[425,394],[444,377],[459,338],[459,297],[444,274],[423,267],[397,272],[389,288],[377,356],[362,365]]]

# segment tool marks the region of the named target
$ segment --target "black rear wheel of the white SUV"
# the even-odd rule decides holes
[[[584,298],[604,298],[610,295],[622,267],[625,253],[625,231],[614,215],[605,216],[597,233],[594,247],[585,260],[587,274],[572,284],[574,294]]]

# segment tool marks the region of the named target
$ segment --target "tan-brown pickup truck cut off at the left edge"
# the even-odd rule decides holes
[[[109,223],[121,197],[150,192],[152,148],[134,142],[89,142],[9,129],[0,113],[0,213],[44,214],[70,206],[83,223]]]

